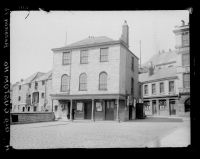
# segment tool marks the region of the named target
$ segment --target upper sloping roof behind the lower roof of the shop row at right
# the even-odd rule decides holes
[[[150,62],[152,62],[153,65],[175,62],[176,57],[177,53],[175,50],[168,52],[159,52],[153,55],[145,64],[143,64],[143,66],[147,66]]]

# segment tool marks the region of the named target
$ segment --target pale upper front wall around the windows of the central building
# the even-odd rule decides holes
[[[80,50],[73,50],[71,54],[71,65],[62,65],[62,52],[54,53],[53,93],[60,93],[61,76],[70,75],[70,94],[114,94],[119,93],[119,61],[120,46],[109,46],[108,62],[100,62],[100,48],[88,50],[88,64],[80,64]],[[71,70],[70,70],[71,66]],[[99,90],[99,73],[105,71],[108,74],[107,91]],[[79,76],[87,74],[87,91],[79,91]]]

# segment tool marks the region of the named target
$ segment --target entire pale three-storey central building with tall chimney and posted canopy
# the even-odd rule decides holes
[[[88,37],[52,49],[50,96],[56,118],[117,121],[135,118],[132,101],[138,98],[138,57],[129,50],[128,34],[125,21],[119,40]]]

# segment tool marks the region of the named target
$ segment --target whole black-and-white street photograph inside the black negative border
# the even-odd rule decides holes
[[[10,146],[190,146],[189,14],[12,11]]]

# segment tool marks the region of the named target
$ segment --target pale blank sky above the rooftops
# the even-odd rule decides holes
[[[13,11],[10,15],[10,82],[53,66],[52,48],[88,36],[118,40],[124,20],[129,26],[129,49],[141,63],[159,50],[175,47],[173,29],[189,22],[188,10],[173,11]]]

